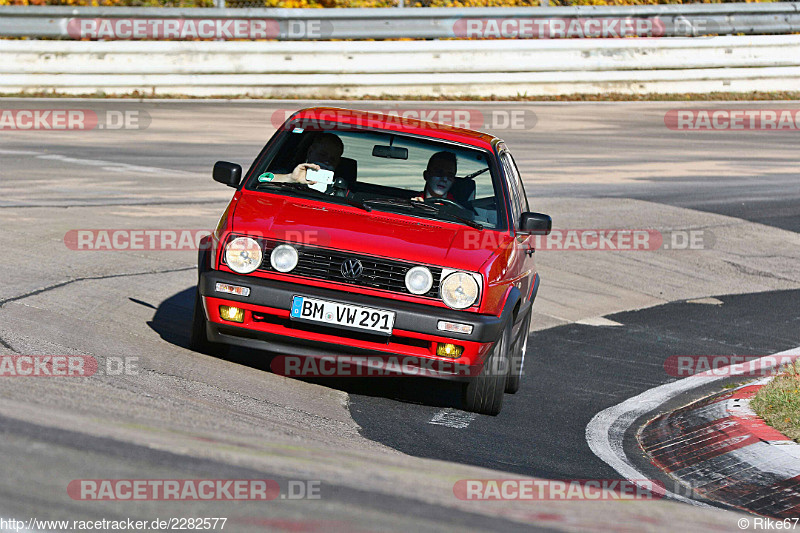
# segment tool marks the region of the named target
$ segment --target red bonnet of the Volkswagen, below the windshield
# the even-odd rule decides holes
[[[241,191],[236,233],[476,272],[507,234],[306,198]],[[501,241],[501,242],[498,242]]]

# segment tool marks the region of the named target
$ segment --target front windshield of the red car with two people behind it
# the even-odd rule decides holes
[[[331,135],[343,145],[338,161],[323,146],[338,144]],[[327,141],[321,141],[323,137]],[[502,196],[491,161],[484,150],[395,132],[295,127],[283,133],[275,148],[258,162],[246,188],[504,229],[495,201]],[[267,173],[289,174],[306,162],[333,170],[328,178],[331,183],[317,183],[309,190],[306,185],[290,187],[263,178]]]

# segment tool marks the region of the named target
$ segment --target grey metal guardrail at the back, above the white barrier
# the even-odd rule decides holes
[[[122,35],[120,32],[98,31],[102,29],[100,25],[104,20],[109,21],[109,27],[116,24],[117,27],[124,25],[126,29]],[[245,21],[243,24],[257,21],[263,31],[244,38],[277,40],[618,36],[613,35],[613,30],[611,35],[604,34],[604,20],[617,21],[618,28],[622,27],[620,24],[629,26],[630,31],[625,31],[623,36],[756,35],[800,32],[800,2],[406,9],[0,7],[0,36],[130,39],[132,36],[126,36],[125,32],[135,20],[149,24],[150,33],[153,33],[153,28],[163,28],[164,21],[168,20],[184,21],[183,25],[185,21],[194,23],[198,20]],[[92,23],[87,21],[94,21],[95,33],[87,30],[82,35],[81,21],[89,26]],[[573,30],[570,32],[571,27]],[[593,33],[595,30],[599,35]],[[209,38],[242,38],[231,35],[222,31]],[[140,37],[170,38],[168,35],[148,35],[147,31]],[[187,36],[178,34],[173,38],[198,37],[202,38],[202,35],[190,32]]]

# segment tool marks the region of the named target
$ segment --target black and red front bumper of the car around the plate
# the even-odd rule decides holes
[[[217,282],[250,288],[249,296],[216,292]],[[424,304],[378,298],[263,278],[240,276],[216,270],[200,274],[200,295],[208,319],[209,340],[277,352],[283,355],[324,357],[337,355],[382,355],[447,362],[434,371],[438,377],[463,379],[476,375],[500,335],[502,319],[472,312],[442,309]],[[336,329],[290,319],[292,298],[302,295],[323,300],[385,309],[395,313],[391,336]],[[220,305],[245,310],[243,323],[222,320]],[[440,331],[439,320],[472,325],[469,335]],[[437,343],[464,347],[458,359],[436,355]],[[434,367],[436,367],[435,365]]]

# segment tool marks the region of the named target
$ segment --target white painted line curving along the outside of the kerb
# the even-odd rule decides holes
[[[757,368],[773,368],[783,361],[776,362],[775,359],[771,358],[780,356],[794,356],[794,358],[800,358],[800,347],[762,357],[753,361],[753,364],[756,365]],[[752,368],[749,362],[747,364],[747,369],[744,367],[745,365],[730,365],[725,368],[703,372],[695,376],[673,381],[672,383],[665,383],[664,385],[647,390],[638,396],[629,398],[620,404],[609,407],[597,413],[589,422],[589,425],[586,426],[586,442],[597,457],[602,459],[603,462],[607,463],[627,480],[636,483],[636,480],[647,479],[647,475],[637,470],[636,467],[633,466],[633,463],[628,460],[622,446],[622,439],[625,436],[625,432],[631,424],[633,424],[634,420],[650,411],[658,409],[664,402],[679,394],[727,376],[744,374],[745,370],[749,371]],[[665,496],[692,505],[706,506],[703,503],[685,498],[670,491],[666,491]]]

